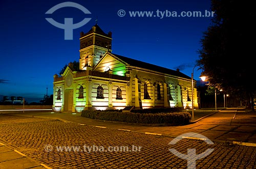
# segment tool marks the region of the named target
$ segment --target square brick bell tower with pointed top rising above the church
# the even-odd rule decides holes
[[[112,32],[105,34],[98,24],[95,24],[88,33],[80,33],[80,70],[88,66],[94,67],[106,51],[111,52]]]

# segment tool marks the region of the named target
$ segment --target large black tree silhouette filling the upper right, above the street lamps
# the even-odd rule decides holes
[[[198,64],[212,85],[253,103],[254,21],[256,12],[250,1],[212,0],[215,16],[201,39]],[[251,106],[254,111],[254,106]]]

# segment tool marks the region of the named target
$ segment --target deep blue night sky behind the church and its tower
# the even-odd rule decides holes
[[[73,7],[46,12],[67,1],[7,1],[0,2],[0,100],[3,95],[22,96],[28,102],[39,101],[53,94],[53,75],[63,66],[79,60],[80,32],[87,33],[98,18],[105,32],[112,32],[112,52],[176,70],[186,75],[198,59],[203,32],[212,17],[158,17],[158,11],[210,11],[210,0],[158,1],[72,1],[91,12],[84,14]],[[119,10],[126,15],[118,16]],[[152,17],[131,17],[129,11],[154,11]],[[155,17],[154,17],[155,15]],[[84,18],[91,20],[73,30],[73,40],[64,39],[64,30],[50,24],[45,18],[73,23]],[[201,70],[194,70],[199,80]],[[33,98],[33,99],[32,99]]]

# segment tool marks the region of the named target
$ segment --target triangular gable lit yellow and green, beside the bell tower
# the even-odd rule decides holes
[[[100,61],[95,65],[93,71],[105,72],[108,69],[112,70],[112,74],[124,76],[126,73],[126,66],[129,64],[117,58],[114,54],[106,52]]]

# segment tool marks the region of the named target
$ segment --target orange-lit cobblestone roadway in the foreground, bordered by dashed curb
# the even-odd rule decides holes
[[[207,144],[203,140],[99,128],[46,119],[0,115],[0,142],[51,168],[187,168],[187,160],[168,149],[196,154],[197,168],[255,168],[256,147]],[[6,120],[4,120],[7,118]],[[9,123],[12,122],[12,123]],[[15,122],[15,123],[14,123]],[[123,149],[124,148],[124,149]]]

